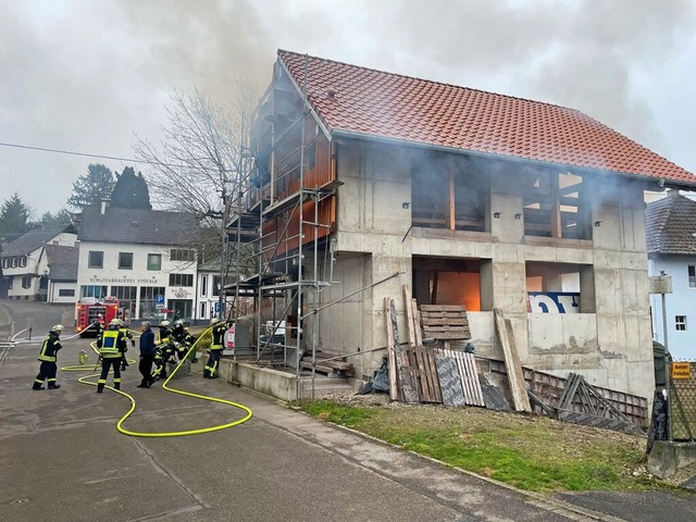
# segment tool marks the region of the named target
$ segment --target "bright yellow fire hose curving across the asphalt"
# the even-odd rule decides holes
[[[196,399],[210,400],[212,402],[221,402],[223,405],[228,405],[228,406],[232,406],[234,408],[238,408],[238,409],[245,411],[246,415],[244,418],[241,418],[241,419],[238,419],[238,420],[234,421],[234,422],[228,422],[226,424],[217,424],[215,426],[209,426],[209,427],[200,427],[198,430],[187,430],[187,431],[183,431],[183,432],[132,432],[130,430],[126,430],[125,427],[123,427],[123,423],[135,411],[135,408],[136,408],[135,399],[130,395],[126,394],[125,391],[123,391],[121,389],[116,389],[116,388],[114,388],[112,386],[104,386],[105,388],[109,388],[112,391],[115,391],[116,394],[122,395],[122,396],[124,396],[124,397],[126,397],[126,398],[128,398],[130,400],[130,409],[116,423],[116,430],[119,430],[119,432],[123,433],[124,435],[130,435],[132,437],[152,437],[152,438],[154,438],[154,437],[183,437],[183,436],[186,436],[186,435],[200,435],[202,433],[219,432],[221,430],[226,430],[228,427],[237,426],[237,425],[239,425],[241,423],[247,422],[249,419],[251,419],[251,415],[253,414],[251,412],[251,410],[248,407],[246,407],[244,405],[240,405],[238,402],[233,402],[232,400],[220,399],[220,398],[216,398],[216,397],[209,397],[207,395],[194,394],[191,391],[184,391],[183,389],[176,389],[176,388],[172,388],[172,387],[167,386],[169,382],[171,381],[171,378],[174,375],[176,375],[176,372],[178,371],[179,366],[182,365],[182,363],[184,361],[186,361],[186,359],[188,358],[188,356],[191,352],[191,350],[196,349],[196,345],[202,338],[203,334],[209,332],[210,330],[212,330],[212,327],[206,330],[204,332],[201,333],[201,335],[198,336],[198,339],[196,339],[196,341],[188,349],[188,351],[186,352],[186,356],[181,359],[181,361],[178,362],[178,364],[176,365],[174,371],[170,374],[170,376],[166,378],[166,381],[164,381],[164,383],[162,384],[162,388],[167,390],[167,391],[172,391],[173,394],[179,394],[179,395],[185,395],[187,397],[194,397]],[[135,332],[135,331],[132,331],[132,332]],[[96,343],[90,343],[89,346],[95,351],[95,353],[99,355],[99,351],[97,350],[97,347],[95,345],[96,345]],[[80,357],[80,362],[82,362],[82,359],[83,358]],[[130,362],[136,362],[136,361],[128,360],[128,363],[130,363]],[[61,370],[67,371],[67,372],[85,371],[85,369],[88,368],[88,366],[89,366],[88,364],[77,364],[77,365],[72,365],[72,366],[63,366],[63,368],[61,368]],[[96,371],[96,370],[97,370],[97,366],[95,366],[95,369],[92,371]],[[79,382],[82,384],[89,384],[90,386],[97,386],[98,383],[94,383],[94,382],[87,381],[88,378],[97,377],[97,376],[99,376],[99,373],[95,373],[95,374],[91,374],[91,375],[85,375],[84,377],[78,378],[77,382]]]

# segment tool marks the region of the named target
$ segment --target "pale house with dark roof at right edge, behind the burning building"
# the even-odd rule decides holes
[[[645,212],[648,274],[672,278],[672,293],[650,296],[652,335],[675,360],[696,360],[696,201],[670,190]],[[667,316],[667,336],[664,318]]]

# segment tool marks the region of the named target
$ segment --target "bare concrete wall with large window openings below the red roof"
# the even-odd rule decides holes
[[[412,284],[412,256],[469,258],[481,262],[481,312],[470,313],[477,353],[502,357],[493,310],[510,319],[523,364],[566,376],[579,372],[597,385],[651,397],[652,350],[647,297],[647,257],[643,187],[633,182],[591,179],[592,239],[524,235],[519,166],[490,172],[486,232],[410,228],[410,171],[413,153],[405,148],[338,144],[335,285],[328,302],[381,278],[399,276],[333,307],[322,319],[320,343],[331,351],[385,346],[383,299],[395,298],[403,330],[401,286]],[[419,161],[426,158],[418,157]],[[422,167],[422,164],[421,164]],[[599,179],[599,178],[598,178]],[[515,214],[518,216],[515,217]],[[580,269],[579,314],[527,312],[526,263],[566,263]],[[344,287],[345,286],[345,287]],[[365,357],[357,376],[371,375],[382,355]],[[353,361],[356,363],[357,361]]]

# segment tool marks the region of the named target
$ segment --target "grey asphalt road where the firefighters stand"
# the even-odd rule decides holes
[[[26,322],[23,314],[37,316],[25,304],[15,309],[10,303],[16,324]],[[51,307],[39,310],[49,326],[55,320],[51,314],[63,313]],[[0,312],[0,339],[8,332]],[[75,364],[87,343],[66,340],[59,365]],[[607,497],[582,497],[573,506],[529,496],[310,419],[220,380],[206,381],[196,368],[200,363],[176,385],[244,403],[253,410],[250,421],[189,437],[125,436],[115,423],[128,401],[108,390],[97,395],[94,387],[77,383],[82,374],[59,371],[61,389],[32,391],[37,351],[38,345],[20,344],[0,363],[1,521],[696,520],[691,499],[678,497],[669,505],[664,497],[652,502],[654,510],[671,508],[669,515],[656,519],[641,518],[644,507],[632,513],[625,506],[612,517]],[[130,430],[189,430],[243,414],[159,385],[136,388],[138,382],[132,366],[123,383],[138,406],[126,422]]]

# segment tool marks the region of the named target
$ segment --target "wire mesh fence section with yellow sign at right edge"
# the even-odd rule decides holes
[[[669,386],[670,438],[696,439],[696,362],[672,362]]]

